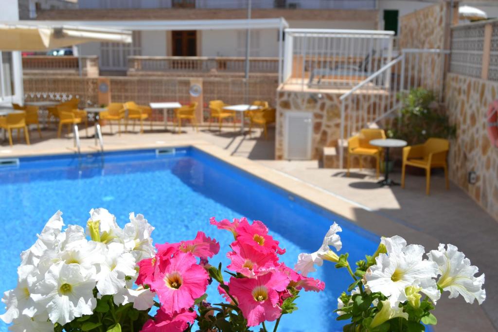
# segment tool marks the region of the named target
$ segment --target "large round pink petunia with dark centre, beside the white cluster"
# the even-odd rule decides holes
[[[192,307],[208,286],[208,273],[197,264],[190,252],[177,252],[171,259],[161,260],[154,272],[150,288],[157,293],[165,313],[179,313]]]

